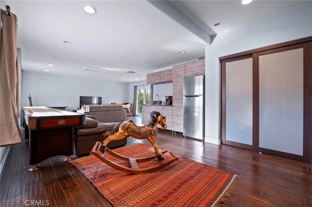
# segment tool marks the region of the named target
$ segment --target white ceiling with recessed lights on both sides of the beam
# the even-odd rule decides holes
[[[145,0],[5,1],[18,17],[22,69],[35,72],[47,69],[48,74],[124,83],[145,80],[146,74],[155,69],[170,68],[204,56],[209,41],[199,38],[194,27],[210,39],[210,35],[305,2],[308,1],[254,0],[248,5],[242,5],[240,0],[163,2],[165,7],[177,9],[173,15],[173,10],[168,12],[154,5],[159,2]],[[85,5],[95,7],[97,13],[84,12]],[[195,24],[190,26],[189,21],[181,18],[183,14]],[[215,23],[220,25],[214,26]],[[185,53],[179,54],[179,51]],[[108,71],[82,70],[85,67]],[[136,73],[126,73],[128,71]]]

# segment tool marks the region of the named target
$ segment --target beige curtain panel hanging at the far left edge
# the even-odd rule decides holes
[[[0,146],[21,142],[17,16],[1,9]]]

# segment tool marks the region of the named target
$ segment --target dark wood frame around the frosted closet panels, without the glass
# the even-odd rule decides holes
[[[259,55],[283,52],[303,48],[303,156],[292,155],[268,149],[259,148]],[[225,91],[225,67],[227,62],[240,59],[253,58],[253,145],[246,145],[226,140],[226,91]],[[221,64],[221,141],[222,144],[233,145],[254,152],[284,156],[294,160],[312,163],[312,37],[293,40],[290,42],[271,45],[251,51],[240,52],[219,58]]]

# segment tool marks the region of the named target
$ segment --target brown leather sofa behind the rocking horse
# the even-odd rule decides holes
[[[91,106],[90,106],[91,107]],[[104,107],[107,108],[107,107]],[[103,108],[102,108],[103,109]],[[112,108],[110,109],[118,109]],[[96,109],[93,109],[96,110]],[[119,109],[118,109],[119,110]],[[109,110],[106,111],[93,111],[96,116],[99,117],[100,120],[106,121],[102,122],[98,120],[98,117],[93,115],[86,115],[86,124],[75,126],[75,148],[74,155],[88,155],[92,150],[94,144],[99,141],[104,141],[105,137],[104,133],[107,131],[112,131],[114,126],[120,121],[126,120],[126,111],[123,110],[121,105],[122,113],[117,112],[117,110]],[[86,114],[86,113],[85,113]],[[105,116],[106,114],[106,116]],[[108,148],[116,148],[127,144],[127,138],[122,140],[112,141],[107,147]]]

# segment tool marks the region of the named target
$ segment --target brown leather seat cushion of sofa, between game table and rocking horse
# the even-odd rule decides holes
[[[96,128],[80,128],[77,130],[77,136],[83,137],[83,136],[91,136],[91,135],[98,135],[103,134],[106,131],[112,131],[114,126],[119,123],[117,122],[98,122],[98,127]]]

